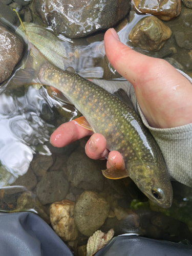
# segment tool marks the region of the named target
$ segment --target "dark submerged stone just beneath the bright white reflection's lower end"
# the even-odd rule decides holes
[[[37,185],[37,178],[33,173],[33,170],[29,167],[26,174],[19,176],[16,181],[11,184],[12,186],[24,186],[28,190],[32,190]],[[20,191],[22,191],[21,188]]]

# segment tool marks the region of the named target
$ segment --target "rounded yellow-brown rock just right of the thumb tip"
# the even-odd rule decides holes
[[[172,31],[154,16],[141,19],[130,32],[133,46],[147,51],[158,51],[172,35]]]

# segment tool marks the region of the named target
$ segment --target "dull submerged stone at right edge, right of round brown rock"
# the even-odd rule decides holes
[[[176,31],[174,34],[179,47],[192,49],[192,31]]]

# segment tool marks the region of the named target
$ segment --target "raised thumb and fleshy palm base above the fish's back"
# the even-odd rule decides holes
[[[104,36],[111,65],[134,86],[140,108],[153,127],[181,126],[192,121],[192,87],[163,59],[135,52],[122,44],[112,28]]]

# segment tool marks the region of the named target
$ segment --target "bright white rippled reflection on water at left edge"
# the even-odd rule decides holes
[[[24,175],[34,153],[51,155],[42,144],[55,129],[56,100],[45,88],[23,87],[20,92],[8,86],[0,95],[0,187]]]

